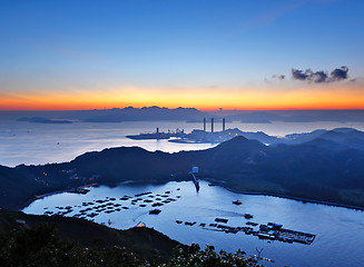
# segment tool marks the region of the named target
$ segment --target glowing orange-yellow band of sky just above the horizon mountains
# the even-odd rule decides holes
[[[201,110],[362,109],[361,88],[305,90],[244,89],[106,89],[72,92],[21,92],[0,97],[2,110],[81,110],[160,106]]]

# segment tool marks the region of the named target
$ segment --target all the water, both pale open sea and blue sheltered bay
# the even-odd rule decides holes
[[[10,119],[0,119],[0,165],[17,166],[42,165],[48,162],[63,162],[87,151],[100,151],[105,148],[120,146],[138,146],[149,151],[161,150],[177,152],[181,150],[207,149],[216,144],[176,144],[167,140],[130,140],[127,135],[168,129],[201,129],[201,123],[178,121],[148,121],[119,123],[32,123]],[[232,122],[227,128],[239,128],[244,131],[264,131],[273,136],[285,136],[294,132],[308,132],[315,129],[334,129],[352,127],[364,130],[364,123],[340,123],[321,121],[312,123],[273,122],[273,123],[240,123]],[[218,125],[215,130],[220,130]],[[132,180],[132,177],[130,177]],[[242,249],[247,255],[262,251],[260,256],[273,261],[262,260],[265,266],[363,266],[364,254],[364,211],[334,207],[319,204],[302,202],[292,199],[255,196],[232,192],[223,187],[210,186],[208,181],[200,181],[197,192],[191,181],[171,181],[164,185],[146,185],[122,182],[117,187],[91,187],[86,195],[60,192],[47,196],[31,202],[23,209],[27,214],[45,214],[71,211],[65,216],[75,216],[80,210],[90,208],[82,217],[96,222],[105,224],[117,229],[128,229],[139,221],[147,227],[176,239],[183,244],[197,243],[201,247],[206,244],[215,246],[217,250],[236,251]],[[142,195],[136,205],[131,198],[120,200],[122,196]],[[159,195],[159,196],[158,196]],[[151,197],[149,197],[151,196]],[[159,207],[159,215],[149,215],[156,198],[168,196],[175,199]],[[115,200],[111,200],[114,199]],[[145,201],[151,199],[151,201]],[[240,199],[243,205],[233,205]],[[112,212],[99,212],[95,217],[92,207],[96,200],[112,202]],[[89,205],[92,202],[92,205]],[[88,206],[83,206],[87,204]],[[146,205],[140,206],[140,205]],[[120,210],[116,210],[120,209]],[[250,221],[282,224],[284,228],[316,235],[311,245],[288,244],[258,239],[244,233],[226,234],[204,229],[200,224],[214,224],[216,218],[226,218],[229,226],[246,226],[244,214],[254,216]],[[183,221],[177,224],[176,220]],[[185,222],[195,222],[193,226]],[[109,224],[110,222],[110,224]],[[262,250],[263,249],[263,250]]]

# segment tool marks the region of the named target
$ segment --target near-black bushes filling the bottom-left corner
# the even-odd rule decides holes
[[[1,266],[140,266],[148,261],[125,247],[88,248],[61,239],[55,226],[39,225],[0,236]]]

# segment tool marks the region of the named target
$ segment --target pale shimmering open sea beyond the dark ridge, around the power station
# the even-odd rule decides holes
[[[127,135],[153,132],[159,127],[168,129],[203,129],[203,123],[176,121],[146,121],[118,123],[75,122],[67,125],[47,125],[17,121],[14,118],[0,117],[0,165],[13,167],[20,164],[42,165],[48,162],[70,161],[75,157],[105,148],[120,146],[139,146],[149,151],[161,150],[176,152],[180,150],[198,150],[211,148],[211,144],[176,144],[168,140],[130,140]],[[239,128],[243,131],[264,131],[273,136],[285,136],[293,132],[307,132],[315,129],[334,129],[354,127],[364,130],[362,122],[273,122],[240,123],[228,122],[226,128]],[[222,130],[219,123],[215,130]]]

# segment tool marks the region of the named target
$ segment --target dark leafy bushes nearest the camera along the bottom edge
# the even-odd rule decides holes
[[[61,238],[55,226],[41,224],[0,234],[0,266],[256,266],[245,253],[216,253],[214,247],[201,250],[198,245],[178,247],[167,263],[150,261],[125,247],[85,247]]]

